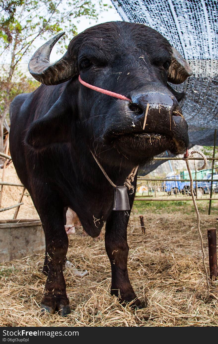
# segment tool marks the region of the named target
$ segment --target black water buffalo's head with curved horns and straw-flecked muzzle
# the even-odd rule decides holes
[[[69,80],[64,101],[69,101],[68,108],[74,114],[80,136],[98,157],[115,165],[123,158],[127,164],[129,161],[138,165],[166,150],[175,154],[185,152],[187,123],[177,101],[179,94],[168,82],[180,84],[192,72],[160,33],[136,23],[99,24],[74,37],[65,55],[50,64],[52,47],[62,35],[35,52],[29,71],[45,85]],[[95,92],[79,83],[79,75],[85,82],[122,94],[131,101]],[[39,120],[49,123],[50,130],[57,126],[54,112]],[[40,133],[36,126],[40,128],[40,124],[33,124],[27,138],[33,147],[43,145],[43,138],[37,139]],[[69,130],[68,125],[65,130]]]

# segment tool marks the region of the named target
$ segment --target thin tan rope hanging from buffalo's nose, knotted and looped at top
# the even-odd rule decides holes
[[[191,191],[191,196],[192,196],[192,200],[194,203],[194,207],[195,207],[195,211],[197,214],[197,229],[198,229],[198,233],[199,233],[199,237],[200,237],[200,244],[201,244],[201,251],[202,251],[202,261],[203,261],[203,266],[204,266],[204,270],[205,270],[205,274],[206,274],[206,281],[207,281],[207,297],[210,297],[210,286],[209,286],[209,280],[208,280],[208,273],[207,273],[207,268],[205,265],[205,251],[204,251],[204,247],[203,247],[203,237],[200,231],[200,215],[198,212],[198,208],[197,208],[197,204],[195,201],[195,195],[194,195],[194,191],[193,191],[193,179],[191,176],[191,171],[190,171],[190,167],[189,167],[189,163],[188,163],[188,159],[192,158],[193,155],[197,153],[200,154],[201,157],[204,159],[204,165],[200,168],[198,168],[198,171],[203,170],[206,166],[207,166],[207,158],[205,157],[205,155],[200,152],[200,151],[192,151],[191,153],[188,153],[188,150],[186,150],[186,154],[184,154],[183,160],[185,160],[186,162],[186,166],[187,166],[187,170],[188,170],[188,174],[189,174],[189,178],[190,178],[190,191]]]

